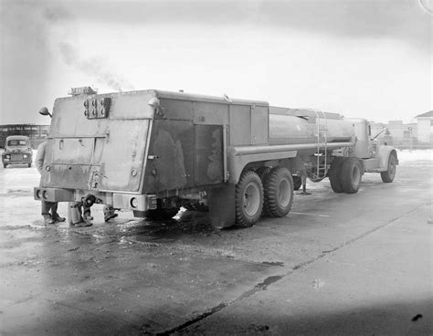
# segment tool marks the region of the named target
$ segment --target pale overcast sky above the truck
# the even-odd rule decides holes
[[[371,121],[432,110],[430,0],[0,4],[0,124],[46,124],[40,107],[88,85],[227,93]]]

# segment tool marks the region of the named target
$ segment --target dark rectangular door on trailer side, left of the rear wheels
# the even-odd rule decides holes
[[[224,180],[223,127],[195,125],[195,185]]]

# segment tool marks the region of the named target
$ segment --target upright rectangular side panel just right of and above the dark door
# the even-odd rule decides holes
[[[249,105],[230,105],[230,145],[251,144],[251,108]]]

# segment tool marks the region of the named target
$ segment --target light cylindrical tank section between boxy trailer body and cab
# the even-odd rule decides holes
[[[353,137],[352,122],[342,118],[269,114],[270,144],[351,142]]]

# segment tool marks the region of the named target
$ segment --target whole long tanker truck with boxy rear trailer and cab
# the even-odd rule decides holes
[[[55,100],[36,200],[170,218],[206,207],[214,226],[290,212],[302,176],[354,194],[364,173],[390,183],[396,150],[364,119],[184,92],[139,90]]]

